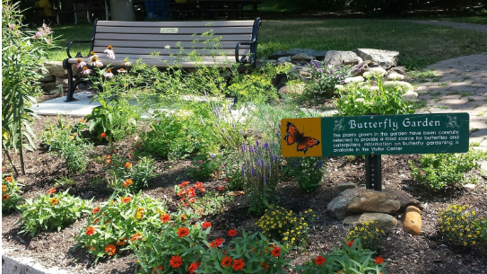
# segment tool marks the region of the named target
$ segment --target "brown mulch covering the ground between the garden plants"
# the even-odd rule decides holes
[[[55,117],[41,117],[32,126],[40,135],[48,120],[55,121]],[[78,119],[70,119],[75,122]],[[38,140],[39,144],[39,140]],[[92,158],[105,155],[107,144],[96,144]],[[136,137],[129,137],[117,147],[129,151],[137,145]],[[387,230],[387,240],[380,255],[387,261],[387,270],[392,273],[487,273],[487,250],[485,247],[464,249],[451,246],[443,241],[438,234],[438,211],[449,204],[469,204],[480,216],[487,217],[487,181],[479,176],[479,182],[474,190],[456,188],[433,192],[425,190],[411,180],[408,161],[415,161],[418,155],[383,155],[383,187],[404,190],[422,202],[422,234],[412,236],[404,233],[402,225]],[[155,158],[157,177],[152,179],[150,187],[143,192],[154,198],[174,196],[174,185],[189,179],[186,174],[188,161],[169,162]],[[3,157],[3,166],[7,167]],[[19,160],[14,156],[14,162],[19,167]],[[93,198],[93,206],[107,200],[111,191],[106,183],[100,180],[101,166],[91,161],[86,172],[77,174],[66,170],[64,161],[57,155],[48,153],[48,148],[39,144],[38,150],[25,154],[27,175],[20,176],[24,198],[36,198],[41,193],[53,187],[55,180],[68,177],[75,181],[75,185],[60,186],[60,190],[70,189],[72,195],[83,199]],[[293,264],[300,264],[317,256],[319,252],[330,252],[339,240],[347,233],[347,227],[326,211],[326,205],[334,199],[339,182],[352,181],[359,185],[365,182],[364,161],[360,158],[332,157],[327,162],[326,179],[322,186],[312,192],[301,191],[293,181],[283,181],[279,185],[281,206],[294,212],[312,208],[317,213],[317,222],[309,234],[309,245],[305,250],[293,250],[289,257],[295,259]],[[474,171],[474,173],[478,173]],[[207,190],[216,190],[222,186],[222,179],[216,178],[205,181]],[[402,216],[396,216],[400,221]],[[2,216],[2,248],[8,249],[13,257],[33,257],[41,261],[46,267],[57,266],[61,269],[77,273],[134,273],[135,256],[120,254],[117,258],[100,261],[93,265],[93,258],[86,252],[74,250],[73,239],[79,234],[86,222],[82,218],[69,225],[60,232],[42,232],[34,237],[19,234],[18,213]],[[248,202],[242,195],[234,199],[228,208],[220,215],[205,217],[213,224],[210,237],[221,236],[230,228],[246,231],[257,231],[257,217],[248,214]],[[400,222],[399,222],[400,223]]]

